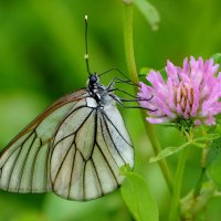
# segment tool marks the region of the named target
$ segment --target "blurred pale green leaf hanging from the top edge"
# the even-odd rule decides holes
[[[154,31],[158,30],[158,24],[160,22],[159,12],[157,9],[150,4],[147,0],[134,0],[137,8],[144,14],[145,19],[149,22]]]

